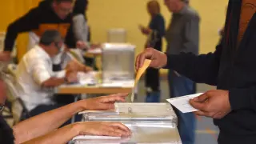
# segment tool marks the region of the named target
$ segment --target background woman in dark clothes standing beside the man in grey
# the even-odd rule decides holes
[[[150,14],[148,27],[140,26],[142,34],[148,36],[146,47],[152,46],[156,50],[162,50],[162,37],[165,34],[165,20],[160,13],[160,5],[152,0],[147,3],[147,11]],[[145,48],[146,48],[145,47]],[[160,102],[160,77],[159,70],[149,68],[146,70],[146,102]]]

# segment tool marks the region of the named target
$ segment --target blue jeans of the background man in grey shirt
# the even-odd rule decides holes
[[[189,78],[175,74],[173,70],[168,74],[170,86],[170,98],[194,94],[195,83]],[[182,144],[194,144],[196,119],[193,113],[183,114],[181,111],[174,108],[178,117],[178,132],[182,138]]]

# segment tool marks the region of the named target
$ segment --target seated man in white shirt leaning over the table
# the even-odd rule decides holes
[[[16,87],[30,116],[66,105],[54,102],[54,90],[50,88],[77,82],[77,71],[87,70],[86,66],[73,60],[67,70],[54,72],[52,59],[63,52],[63,47],[61,34],[57,30],[46,30],[39,44],[28,51],[18,64]]]

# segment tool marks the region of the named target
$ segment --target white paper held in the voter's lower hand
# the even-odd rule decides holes
[[[190,113],[190,112],[198,111],[197,109],[195,109],[190,105],[190,99],[196,98],[202,94],[203,93],[190,94],[190,95],[185,95],[178,98],[170,98],[166,100],[170,102],[171,105],[175,106],[178,110],[182,111],[182,113]]]

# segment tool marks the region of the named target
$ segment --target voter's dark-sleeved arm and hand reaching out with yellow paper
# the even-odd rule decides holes
[[[150,67],[172,69],[194,82],[216,85],[221,54],[222,44],[217,46],[214,53],[200,54],[199,56],[191,53],[166,55],[158,50],[148,48],[138,55],[136,69],[142,67],[145,59],[151,59]]]

